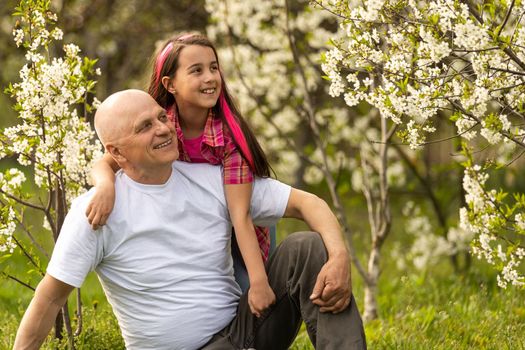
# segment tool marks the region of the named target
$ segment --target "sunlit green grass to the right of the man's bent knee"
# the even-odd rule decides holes
[[[490,274],[383,277],[380,317],[365,327],[370,349],[525,349],[525,292],[498,288]],[[292,349],[313,349],[306,333]]]

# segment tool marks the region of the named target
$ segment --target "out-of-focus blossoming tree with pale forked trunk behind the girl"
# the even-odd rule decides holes
[[[337,18],[312,9],[308,1],[208,0],[206,5],[212,16],[208,35],[223,43],[221,67],[277,174],[327,185],[353,265],[365,282],[365,317],[377,317],[380,249],[391,227],[389,188],[404,183],[404,169],[399,154],[388,151],[391,121],[377,123],[366,110],[360,114],[328,95],[320,56],[338,30]],[[363,194],[368,211],[367,266],[357,257],[344,201],[352,189]]]

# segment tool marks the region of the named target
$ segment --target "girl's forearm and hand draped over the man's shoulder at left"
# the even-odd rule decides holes
[[[115,204],[115,173],[120,169],[109,153],[97,161],[91,169],[91,179],[96,187],[86,209],[89,224],[94,230],[106,223]]]

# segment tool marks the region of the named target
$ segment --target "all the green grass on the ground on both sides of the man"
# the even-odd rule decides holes
[[[289,232],[282,225],[278,232]],[[4,260],[0,270],[27,269],[20,256]],[[370,349],[525,349],[525,291],[496,286],[494,273],[477,260],[457,274],[445,260],[425,273],[398,271],[385,255],[379,283],[379,318],[365,327]],[[23,275],[22,275],[23,276]],[[35,274],[23,277],[38,279]],[[353,291],[363,311],[363,283],[353,271]],[[21,315],[32,292],[2,280],[0,285],[0,350],[12,348]],[[84,332],[78,349],[123,349],[117,322],[94,274],[82,288]],[[71,308],[75,298],[70,298]],[[61,349],[51,337],[43,349]],[[301,331],[291,347],[313,349]]]

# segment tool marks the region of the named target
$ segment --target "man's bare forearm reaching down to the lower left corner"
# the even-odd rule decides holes
[[[16,333],[15,350],[39,349],[49,334],[60,308],[73,288],[62,283],[57,289],[56,281],[46,275],[38,285]]]

